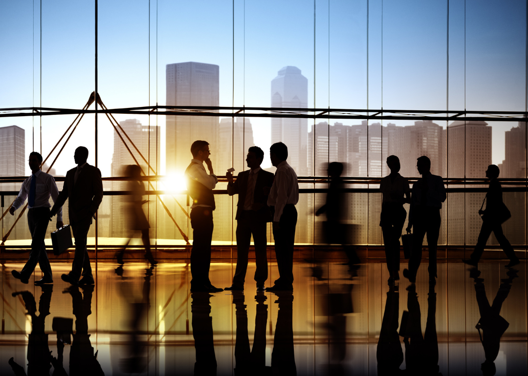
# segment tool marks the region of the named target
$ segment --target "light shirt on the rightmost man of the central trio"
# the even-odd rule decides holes
[[[268,196],[268,206],[275,206],[274,222],[280,220],[282,210],[287,204],[299,201],[299,184],[297,174],[286,161],[282,161],[275,171],[275,179]]]

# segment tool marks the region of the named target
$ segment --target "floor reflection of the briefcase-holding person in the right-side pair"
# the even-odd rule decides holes
[[[416,287],[410,285],[407,294],[409,310],[407,330],[404,333],[406,373],[411,375],[438,375],[438,339],[436,334],[435,284],[429,284],[427,298],[426,331],[422,335],[420,303]]]

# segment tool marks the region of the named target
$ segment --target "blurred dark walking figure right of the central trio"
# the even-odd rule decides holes
[[[315,212],[316,216],[326,214],[326,222],[323,224],[323,232],[326,244],[341,244],[348,258],[348,266],[353,267],[360,263],[359,257],[352,245],[348,242],[348,229],[345,220],[348,219],[348,210],[346,205],[346,193],[344,191],[343,163],[331,162],[328,164],[328,176],[330,184],[326,194],[326,203]],[[314,267],[314,276],[322,274],[320,265]]]

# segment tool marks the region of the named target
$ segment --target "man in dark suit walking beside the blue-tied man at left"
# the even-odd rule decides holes
[[[75,255],[71,272],[63,274],[62,280],[72,285],[93,284],[92,267],[86,248],[88,230],[102,201],[101,171],[87,163],[88,149],[80,146],[73,156],[77,167],[66,173],[64,187],[51,209],[53,217],[68,200],[70,225],[75,238]],[[81,273],[82,272],[82,273]],[[79,277],[82,278],[79,281]]]

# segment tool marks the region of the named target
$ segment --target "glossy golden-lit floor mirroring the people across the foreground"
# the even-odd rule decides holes
[[[83,287],[52,263],[37,287],[39,269],[25,285],[6,262],[0,374],[525,375],[526,263],[505,263],[439,263],[436,285],[422,264],[415,289],[390,287],[384,263],[296,263],[293,293],[259,294],[250,263],[243,293],[210,295],[190,294],[185,263],[93,263]],[[229,286],[234,266],[213,263],[211,282]]]

